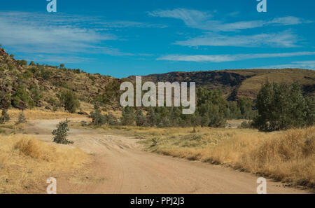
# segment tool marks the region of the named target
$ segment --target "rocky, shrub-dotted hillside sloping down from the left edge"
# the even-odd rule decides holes
[[[71,91],[78,97],[81,109],[91,109],[96,95],[104,93],[111,83],[119,82],[119,79],[88,74],[80,69],[28,64],[15,60],[0,48],[0,102],[10,102],[16,108],[62,109],[57,95]]]

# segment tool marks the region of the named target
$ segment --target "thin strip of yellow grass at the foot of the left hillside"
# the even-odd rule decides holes
[[[9,109],[8,114],[10,119],[18,120],[18,115],[21,111],[18,109]],[[59,118],[79,118],[79,117],[86,117],[83,115],[79,115],[78,113],[68,113],[62,111],[45,111],[43,109],[27,109],[24,111],[25,118],[28,120],[35,120],[35,119],[59,119]]]

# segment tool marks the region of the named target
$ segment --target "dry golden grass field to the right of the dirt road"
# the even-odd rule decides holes
[[[225,164],[293,185],[315,188],[315,127],[285,132],[212,128],[127,127],[147,151]]]

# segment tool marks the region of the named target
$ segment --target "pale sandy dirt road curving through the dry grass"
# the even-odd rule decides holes
[[[58,122],[34,120],[27,132],[51,142]],[[253,174],[141,151],[139,139],[131,137],[72,128],[69,139],[94,162],[82,172],[56,176],[58,193],[256,193],[258,186]],[[307,191],[267,180],[267,193]]]

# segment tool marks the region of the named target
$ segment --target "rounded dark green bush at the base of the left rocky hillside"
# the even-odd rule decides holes
[[[80,102],[78,101],[78,97],[74,94],[74,92],[70,90],[62,91],[59,95],[57,95],[60,101],[60,104],[69,111],[69,113],[76,113],[76,109],[80,106]]]

